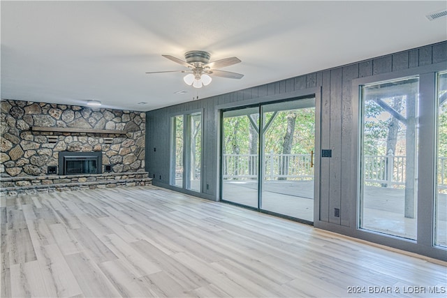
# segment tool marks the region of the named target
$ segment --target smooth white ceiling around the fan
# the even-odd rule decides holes
[[[1,98],[154,110],[447,40],[447,1],[1,1]],[[184,84],[205,50],[242,80]],[[175,94],[187,91],[186,94]],[[145,102],[145,105],[138,105]]]

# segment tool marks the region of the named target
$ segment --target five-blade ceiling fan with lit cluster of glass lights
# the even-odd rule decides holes
[[[188,73],[183,80],[186,84],[192,85],[195,88],[201,88],[210,84],[212,78],[210,75],[217,77],[227,77],[229,79],[241,79],[244,75],[240,73],[231,73],[230,71],[219,70],[223,68],[240,63],[240,59],[236,57],[225,58],[210,62],[210,53],[204,51],[189,51],[184,54],[186,61],[178,59],[170,55],[162,55],[182,66],[189,68],[188,70],[168,70],[168,71],[153,71],[150,73]]]

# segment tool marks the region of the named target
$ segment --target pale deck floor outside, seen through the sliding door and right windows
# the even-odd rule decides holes
[[[225,181],[223,198],[251,207],[258,206],[258,184],[255,181]],[[314,221],[313,181],[266,181],[263,185],[262,209],[306,221]],[[416,239],[415,218],[404,216],[404,190],[365,187],[363,227],[399,237]],[[439,225],[443,235],[439,244],[447,245],[447,195],[439,195]],[[443,212],[444,210],[444,212]]]

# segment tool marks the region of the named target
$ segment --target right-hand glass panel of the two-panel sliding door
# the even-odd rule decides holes
[[[314,221],[315,98],[262,106],[261,209]]]

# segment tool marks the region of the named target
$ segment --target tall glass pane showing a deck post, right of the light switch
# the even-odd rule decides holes
[[[362,87],[360,228],[416,239],[418,77]]]

